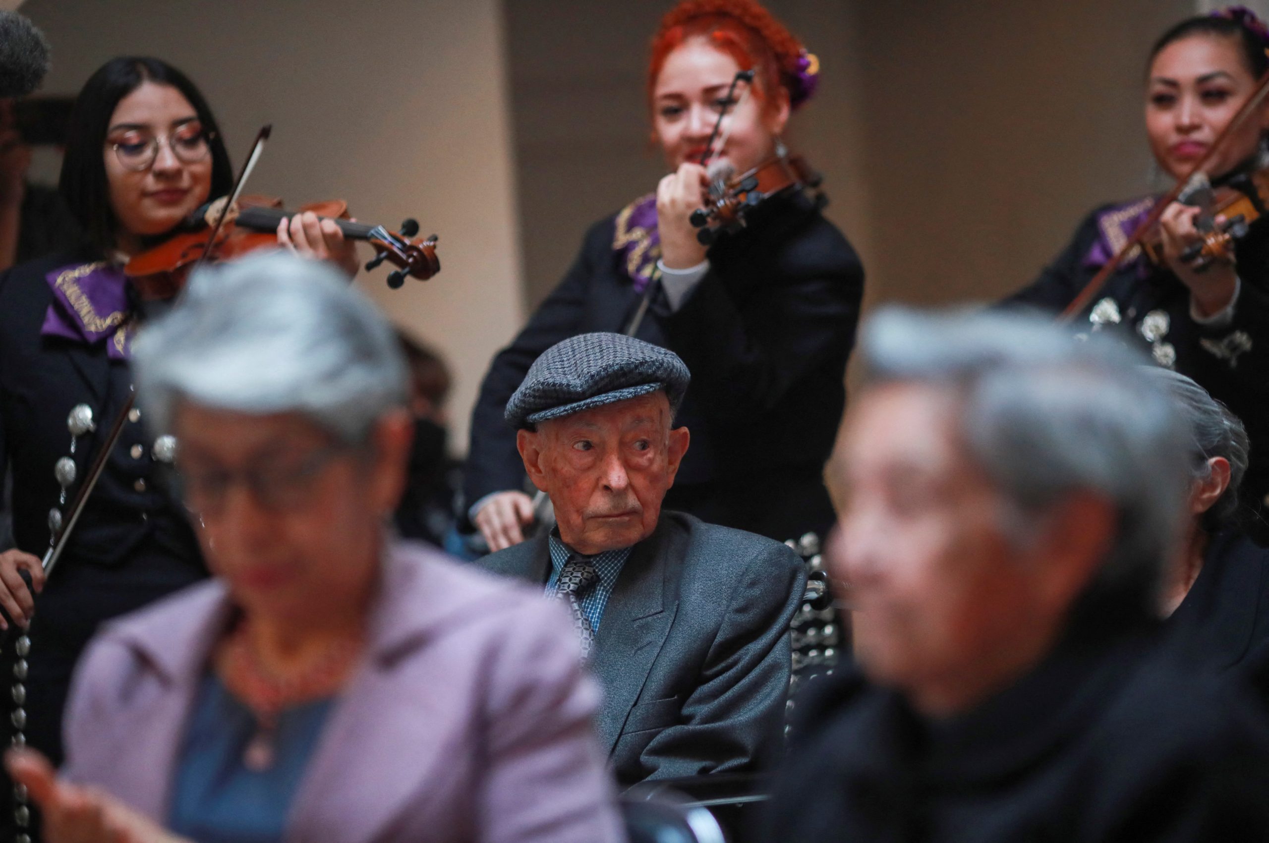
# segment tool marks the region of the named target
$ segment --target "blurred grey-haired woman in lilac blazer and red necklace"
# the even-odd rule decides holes
[[[385,532],[406,369],[335,269],[203,272],[135,361],[216,576],[90,646],[74,783],[11,759],[51,840],[621,839],[567,614]]]

